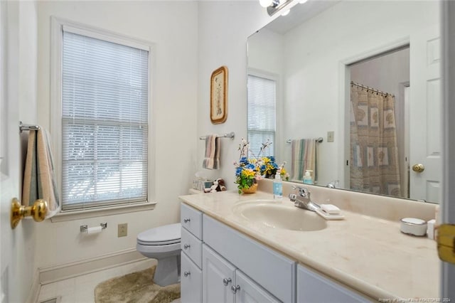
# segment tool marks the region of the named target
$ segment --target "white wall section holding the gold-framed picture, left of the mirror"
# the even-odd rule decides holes
[[[222,139],[221,169],[202,167],[204,143],[198,142],[198,170],[225,179],[228,190],[235,189],[232,161],[239,159],[240,139],[247,137],[247,37],[272,18],[257,1],[201,1],[199,4],[199,92],[198,136],[235,132],[235,139]],[[229,69],[228,119],[210,122],[210,75],[221,65]]]

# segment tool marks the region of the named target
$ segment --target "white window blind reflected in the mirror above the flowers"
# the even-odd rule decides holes
[[[248,142],[255,155],[269,139],[272,146],[262,156],[274,156],[276,87],[275,80],[248,75]]]

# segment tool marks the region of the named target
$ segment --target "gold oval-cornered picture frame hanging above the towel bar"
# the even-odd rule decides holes
[[[210,78],[210,121],[224,123],[228,118],[228,68],[221,66]]]

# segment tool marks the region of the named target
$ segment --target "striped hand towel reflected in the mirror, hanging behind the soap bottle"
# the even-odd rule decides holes
[[[307,169],[313,171],[314,184],[318,181],[317,139],[296,139],[291,142],[291,180],[303,181]]]

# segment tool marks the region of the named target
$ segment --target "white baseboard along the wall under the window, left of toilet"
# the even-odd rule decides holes
[[[39,283],[40,285],[45,285],[146,259],[146,257],[137,252],[136,248],[131,248],[129,250],[120,250],[107,255],[100,255],[98,257],[69,262],[62,265],[42,267],[38,268]]]

